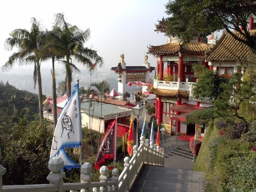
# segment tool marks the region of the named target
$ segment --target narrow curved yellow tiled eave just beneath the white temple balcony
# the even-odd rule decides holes
[[[148,91],[161,97],[171,97],[171,98],[177,98],[177,97],[188,98],[189,97],[189,91],[158,89],[152,86],[148,86]]]

